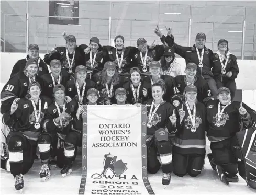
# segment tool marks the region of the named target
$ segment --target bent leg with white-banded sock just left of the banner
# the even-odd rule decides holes
[[[64,144],[64,155],[65,155],[65,165],[71,165],[71,163],[75,160],[77,146],[82,146],[82,133],[71,131],[65,137]]]

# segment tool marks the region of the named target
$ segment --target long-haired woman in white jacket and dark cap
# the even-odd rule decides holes
[[[161,75],[172,76],[181,75],[181,65],[176,62],[173,48],[165,48],[163,56],[159,60],[161,65]]]

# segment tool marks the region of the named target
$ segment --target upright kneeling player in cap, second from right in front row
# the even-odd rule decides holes
[[[197,88],[188,85],[179,109],[180,120],[173,143],[173,173],[179,177],[201,174],[205,159],[205,106],[197,102]]]

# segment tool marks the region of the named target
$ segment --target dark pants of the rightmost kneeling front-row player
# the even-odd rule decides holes
[[[232,178],[238,173],[238,165],[235,154],[233,153],[233,142],[232,139],[225,139],[219,142],[211,142],[210,149],[214,163],[220,165],[226,176]]]

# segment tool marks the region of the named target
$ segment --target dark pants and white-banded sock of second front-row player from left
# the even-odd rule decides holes
[[[48,164],[50,156],[56,157],[59,168],[64,166],[64,137],[57,133],[43,132],[38,139],[38,147],[42,164]]]

